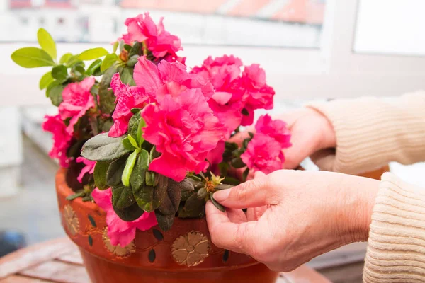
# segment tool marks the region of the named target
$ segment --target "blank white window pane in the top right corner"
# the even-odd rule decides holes
[[[424,0],[360,0],[354,52],[425,55]]]

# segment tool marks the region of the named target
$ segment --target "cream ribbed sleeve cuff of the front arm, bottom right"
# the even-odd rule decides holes
[[[382,175],[363,281],[425,282],[425,189]]]

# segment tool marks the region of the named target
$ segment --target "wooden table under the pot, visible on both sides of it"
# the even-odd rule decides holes
[[[0,283],[89,283],[77,246],[59,238],[0,258]],[[310,267],[282,273],[276,283],[330,283]]]

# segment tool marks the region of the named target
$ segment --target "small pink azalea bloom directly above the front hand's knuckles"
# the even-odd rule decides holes
[[[265,174],[282,169],[285,162],[282,146],[266,134],[257,133],[249,141],[246,151],[241,155],[242,161],[253,171]]]

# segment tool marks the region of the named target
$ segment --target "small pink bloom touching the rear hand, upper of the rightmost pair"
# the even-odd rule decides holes
[[[290,131],[282,120],[272,120],[269,115],[262,115],[256,122],[255,129],[257,133],[276,139],[283,149],[291,146]]]

